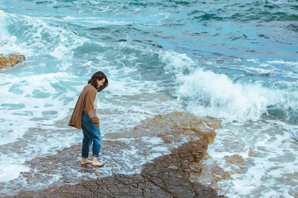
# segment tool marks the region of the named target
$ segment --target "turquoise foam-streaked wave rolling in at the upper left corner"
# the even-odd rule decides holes
[[[71,51],[89,41],[66,26],[55,26],[40,18],[9,14],[2,10],[0,24],[0,51],[18,52],[26,57],[50,54],[58,59],[71,59]]]

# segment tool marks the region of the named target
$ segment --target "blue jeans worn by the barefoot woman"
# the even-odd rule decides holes
[[[98,157],[101,145],[100,128],[96,127],[95,123],[92,122],[85,113],[83,113],[81,129],[83,131],[84,136],[82,146],[82,157],[88,158],[89,149],[92,142],[92,155]]]

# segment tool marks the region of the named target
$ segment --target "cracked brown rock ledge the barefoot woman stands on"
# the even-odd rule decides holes
[[[105,134],[100,156],[105,162],[103,168],[79,165],[80,144],[65,148],[55,155],[26,162],[27,166],[35,170],[23,173],[22,177],[27,184],[34,186],[36,181],[46,181],[47,176],[58,173],[59,180],[47,188],[22,190],[12,197],[224,198],[215,189],[200,183],[204,169],[201,160],[208,156],[208,144],[213,143],[216,136],[214,130],[220,127],[218,120],[199,118],[185,112],[156,115],[143,120],[135,128]],[[154,150],[150,145],[152,141],[144,141],[149,138],[160,140],[155,150],[169,150],[144,163],[140,171],[135,172],[132,170],[138,167],[129,167],[125,162],[117,160],[123,150],[134,148],[134,152],[139,154],[135,155],[136,164],[142,161],[140,156],[146,158]],[[124,174],[120,174],[119,170],[123,170]],[[217,171],[217,179],[222,177],[218,181],[225,179],[224,171],[214,171]],[[103,172],[109,174],[104,175]],[[78,173],[81,177],[77,176]]]

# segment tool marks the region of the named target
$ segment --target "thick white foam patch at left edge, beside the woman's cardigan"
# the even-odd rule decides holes
[[[6,133],[5,137],[0,138],[0,145],[14,142],[22,137],[30,127],[54,124],[66,117],[68,112],[64,104],[69,101],[65,99],[73,98],[75,93],[59,93],[53,85],[57,83],[58,79],[65,77],[70,76],[66,73],[24,77],[0,75],[0,84],[2,84],[0,119],[3,121],[1,131]],[[43,119],[40,119],[42,117]]]

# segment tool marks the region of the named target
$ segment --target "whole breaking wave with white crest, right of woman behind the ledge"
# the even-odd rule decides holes
[[[258,120],[273,107],[279,109],[280,114],[291,112],[285,114],[287,119],[298,112],[298,82],[270,84],[259,80],[236,83],[225,74],[204,71],[198,62],[177,52],[160,52],[159,60],[165,63],[165,72],[176,75],[177,86],[172,90],[172,96],[195,115],[231,122]]]

